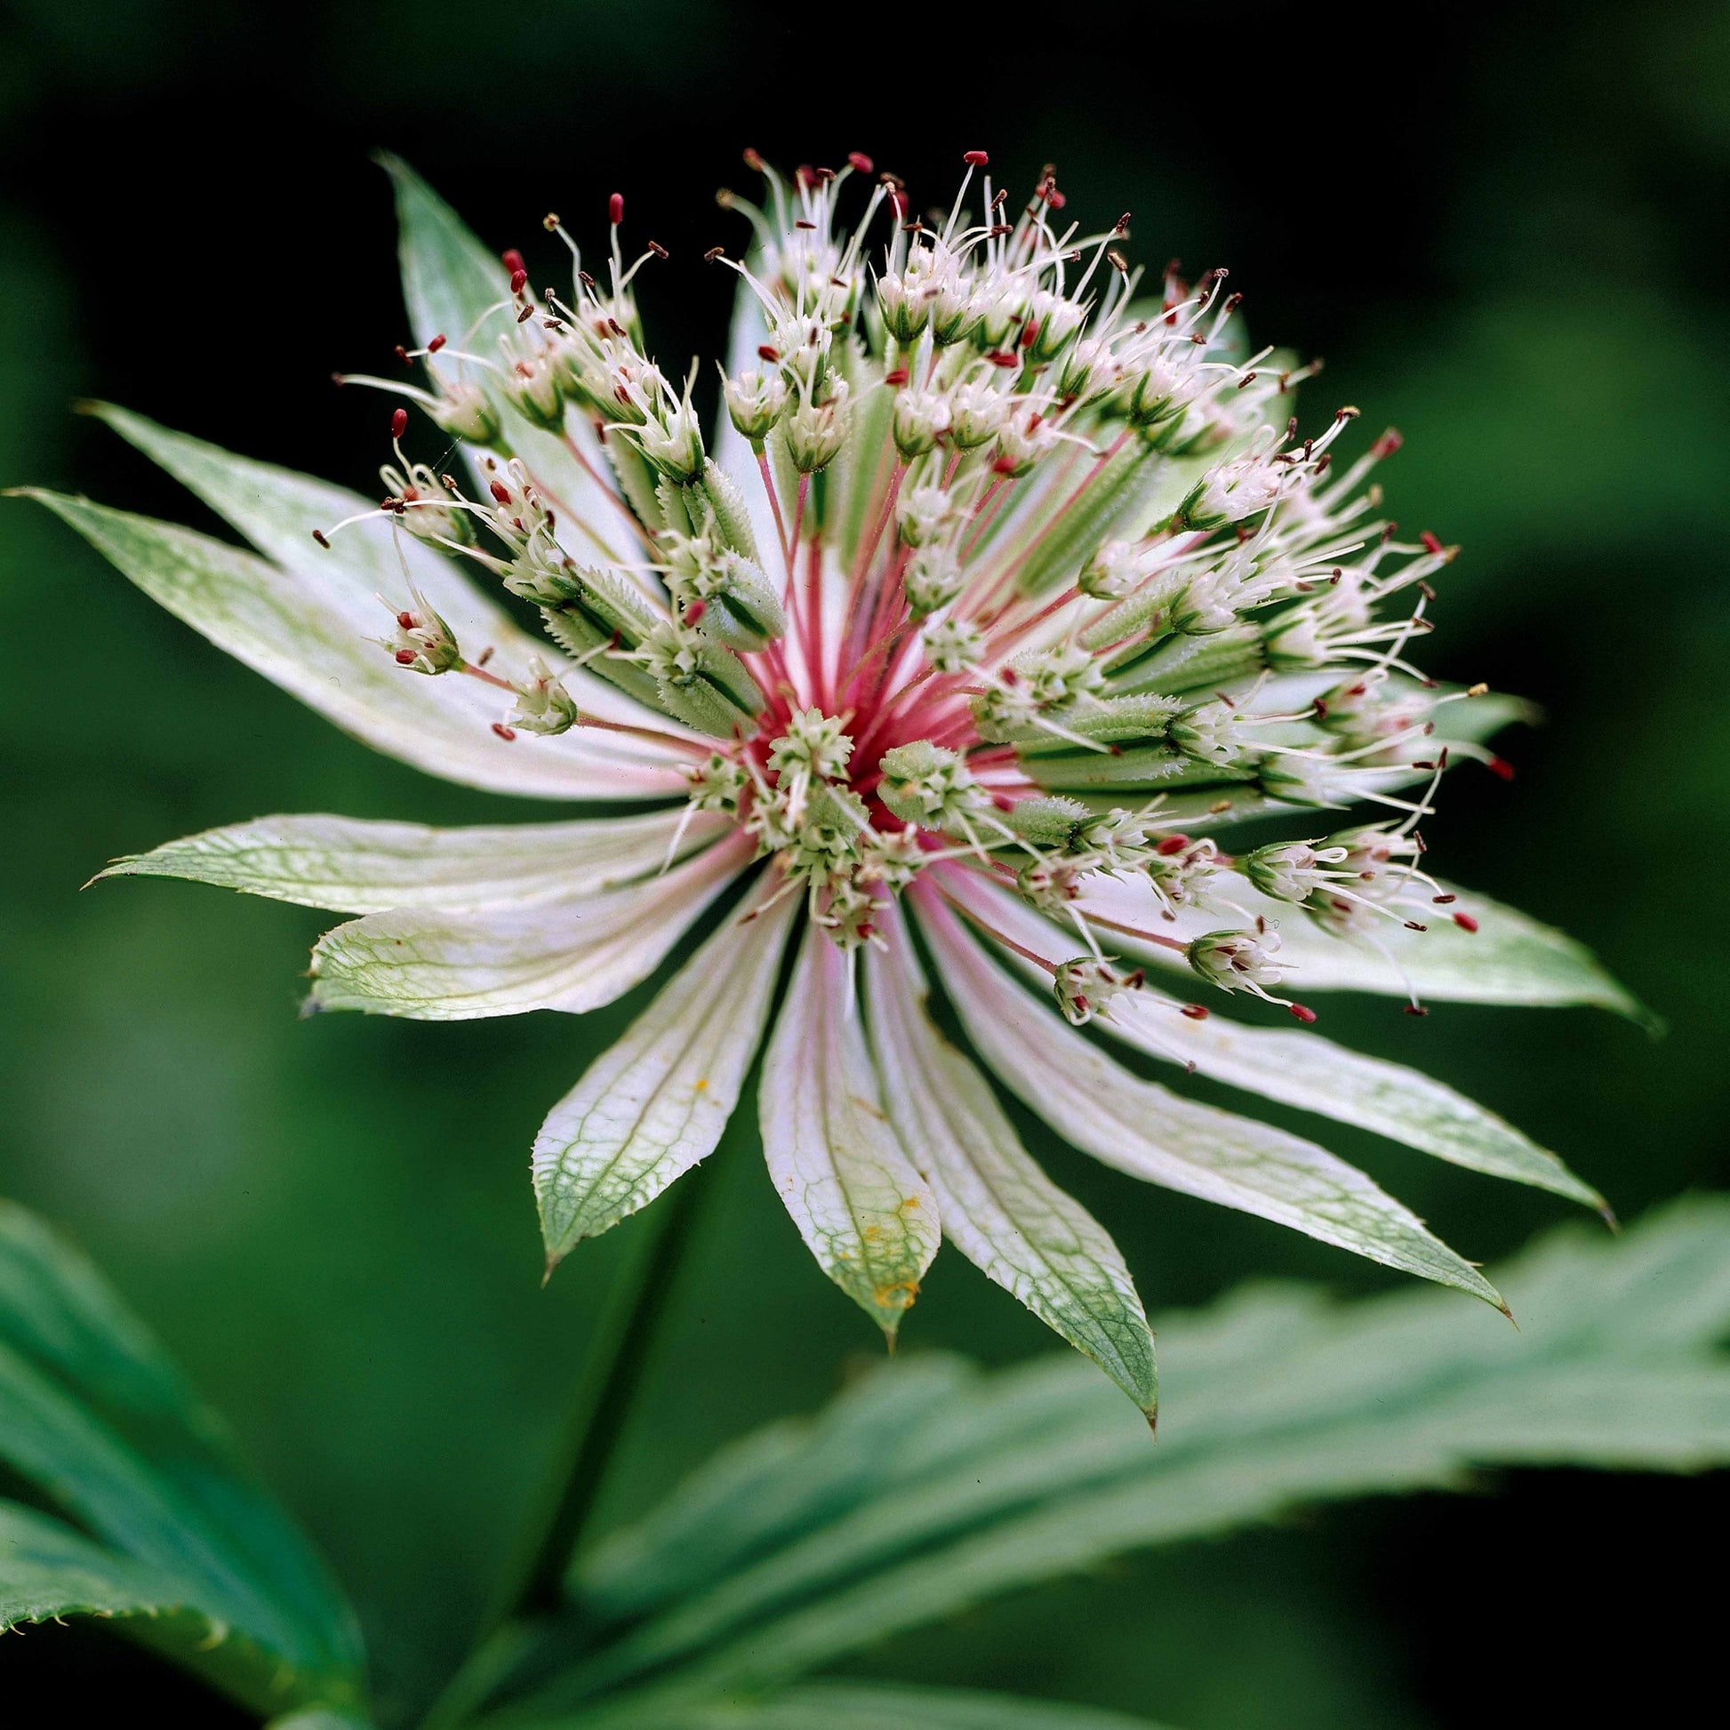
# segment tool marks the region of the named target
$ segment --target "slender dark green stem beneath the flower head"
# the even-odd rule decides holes
[[[697,1173],[687,1173],[644,1220],[642,1242],[609,1294],[595,1349],[583,1370],[561,1462],[548,1479],[529,1540],[507,1571],[509,1590],[484,1623],[484,1635],[439,1694],[422,1730],[462,1723],[538,1645],[548,1618],[566,1604],[564,1576],[607,1476],[607,1462],[630,1417],[644,1360],[678,1278],[682,1249],[697,1214]]]

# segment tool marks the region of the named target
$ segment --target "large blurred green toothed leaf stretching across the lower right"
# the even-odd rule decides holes
[[[1557,1233],[1498,1284],[1524,1332],[1426,1291],[1339,1306],[1263,1287],[1166,1317],[1157,1446],[1074,1360],[991,1375],[887,1363],[803,1448],[787,1426],[772,1448],[747,1438],[704,1467],[697,1493],[597,1550],[576,1574],[592,1611],[614,1609],[621,1581],[623,1599],[657,1602],[656,1557],[666,1600],[526,1716],[650,1671],[690,1701],[773,1687],[1002,1592],[1301,1503],[1458,1488],[1493,1465],[1730,1462],[1716,1349],[1730,1332],[1730,1204],[1675,1206],[1621,1242]],[[879,1400],[898,1406],[887,1432]],[[846,1455],[853,1424],[879,1460],[848,1495],[820,1462]],[[716,1495],[727,1483],[732,1498]],[[713,1566],[694,1567],[682,1543]]]

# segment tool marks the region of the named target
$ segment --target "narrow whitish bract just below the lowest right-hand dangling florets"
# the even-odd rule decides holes
[[[976,877],[957,879],[953,891],[984,915],[990,929],[1024,950],[1050,962],[1067,960],[1074,952],[1074,938],[1021,896]],[[1029,979],[1048,977],[1024,955],[1005,950],[1003,958]],[[1194,1064],[1214,1081],[1605,1211],[1604,1197],[1555,1154],[1419,1069],[1363,1057],[1311,1031],[1246,1028],[1213,1012],[1206,1021],[1192,1021],[1178,1007],[1176,998],[1145,986],[1114,1000],[1099,1026],[1166,1062]]]

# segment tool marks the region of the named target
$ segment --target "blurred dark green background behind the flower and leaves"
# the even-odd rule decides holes
[[[403,334],[375,145],[531,258],[548,206],[599,227],[623,189],[675,254],[645,289],[670,367],[723,329],[725,291],[695,260],[730,239],[713,190],[742,176],[742,145],[865,149],[917,197],[945,194],[967,147],[1012,185],[1055,159],[1074,208],[1135,213],[1142,260],[1230,265],[1259,336],[1325,355],[1311,410],[1358,403],[1406,434],[1394,512],[1465,545],[1429,664],[1548,713],[1507,744],[1514,785],[1453,777],[1439,867],[1590,941],[1669,1022],[1652,1043],[1586,1012],[1412,1021],[1339,1000],[1329,1031],[1505,1111],[1633,1216],[1730,1182],[1714,913],[1730,12],[1417,7],[1398,40],[1391,24],[1261,3],[1010,28],[706,0],[7,0],[0,484],[202,524],[73,419],[92,394],[370,486],[377,403],[337,396],[329,372],[382,370]],[[303,1022],[317,915],[166,882],[80,894],[116,853],[277,810],[552,813],[370,756],[22,503],[0,509],[0,1189],[78,1237],[230,1413],[351,1586],[386,1701],[408,1709],[521,1540],[631,1247],[637,1223],[541,1291],[526,1150],[642,998],[586,1021]],[[1562,1214],[1330,1140],[1472,1256]],[[1150,1310],[1251,1273],[1386,1284],[1040,1150],[1116,1232]],[[687,1182],[708,1192],[701,1240],[611,1519],[877,1349],[810,1266],[754,1126]],[[1462,1327],[1500,1325],[1460,1308]],[[1000,1362],[1048,1336],[952,1251],[903,1339]],[[1701,1609],[1678,1547],[1723,1510],[1721,1483],[1533,1474],[1495,1500],[1329,1512],[1124,1566],[860,1668],[1194,1730],[1493,1723],[1491,1678],[1502,1702],[1526,1697],[1512,1687],[1550,1706],[1602,1685],[1560,1637],[1535,1644],[1543,1630],[1630,1659],[1664,1642],[1685,1676]],[[88,1631],[31,1633],[0,1664],[14,1699],[147,1697],[183,1723],[239,1721]]]

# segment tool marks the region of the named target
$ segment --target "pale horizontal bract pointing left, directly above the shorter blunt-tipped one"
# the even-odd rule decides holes
[[[99,877],[183,877],[337,913],[474,913],[618,887],[708,846],[727,827],[716,813],[676,808],[469,829],[261,817],[116,860]]]

